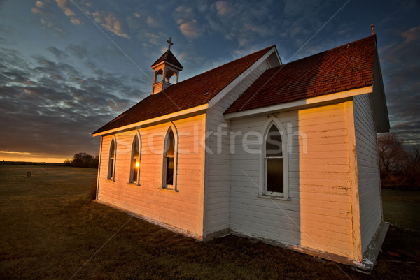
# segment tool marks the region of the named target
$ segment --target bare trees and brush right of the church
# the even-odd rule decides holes
[[[394,133],[378,136],[382,186],[420,186],[420,146],[407,152]]]

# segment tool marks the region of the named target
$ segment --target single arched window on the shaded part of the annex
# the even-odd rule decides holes
[[[264,143],[264,194],[288,198],[288,154],[286,131],[280,121],[266,126]]]

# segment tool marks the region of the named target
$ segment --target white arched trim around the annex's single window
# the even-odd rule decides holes
[[[265,142],[267,141],[267,134],[269,128],[274,124],[279,129],[281,135],[281,142],[283,145],[283,193],[267,191],[267,163],[265,157]],[[259,197],[283,198],[282,200],[290,200],[288,187],[288,135],[286,128],[277,117],[269,117],[262,129],[264,135],[262,141],[262,153],[260,154],[260,191]]]

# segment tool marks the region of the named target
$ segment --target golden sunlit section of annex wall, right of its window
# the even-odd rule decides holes
[[[349,106],[300,110],[299,182],[301,245],[352,258]]]

